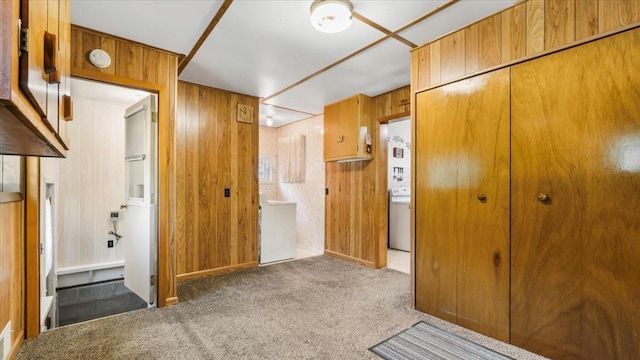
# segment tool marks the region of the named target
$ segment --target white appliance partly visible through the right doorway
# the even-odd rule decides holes
[[[410,251],[411,188],[389,190],[389,247]]]

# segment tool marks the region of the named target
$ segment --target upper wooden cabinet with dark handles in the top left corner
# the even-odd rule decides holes
[[[0,10],[0,154],[64,157],[69,1],[8,0]]]

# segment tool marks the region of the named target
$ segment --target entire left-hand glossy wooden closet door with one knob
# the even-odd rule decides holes
[[[509,69],[417,96],[416,308],[509,340]]]

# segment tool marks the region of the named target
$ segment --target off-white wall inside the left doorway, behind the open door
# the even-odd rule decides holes
[[[124,204],[124,112],[127,106],[74,97],[70,150],[58,160],[57,267],[124,259],[122,241],[107,248],[110,212]],[[50,171],[50,170],[47,170]],[[124,220],[117,224],[118,232]]]

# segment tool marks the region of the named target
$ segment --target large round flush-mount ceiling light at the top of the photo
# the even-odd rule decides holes
[[[311,24],[326,33],[337,33],[351,25],[353,6],[349,0],[315,0],[311,4]]]

